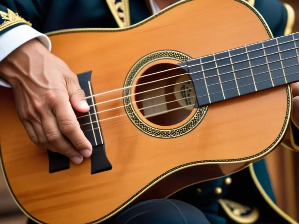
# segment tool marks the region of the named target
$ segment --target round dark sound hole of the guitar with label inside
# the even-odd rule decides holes
[[[156,73],[172,68],[176,69]],[[156,74],[147,76],[152,73]],[[193,83],[186,71],[178,65],[153,65],[138,78],[137,84],[143,84],[135,89],[135,93],[138,93],[135,95],[137,107],[148,121],[156,125],[178,124],[193,110],[196,102]]]

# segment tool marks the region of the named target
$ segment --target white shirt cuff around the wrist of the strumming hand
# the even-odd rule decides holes
[[[16,50],[22,44],[38,39],[49,51],[51,50],[51,41],[48,36],[38,32],[29,25],[20,25],[0,35],[0,61],[7,55]],[[4,79],[0,78],[0,85],[11,87]]]

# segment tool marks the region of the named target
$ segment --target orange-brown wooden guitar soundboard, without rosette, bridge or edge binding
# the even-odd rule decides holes
[[[75,73],[92,70],[94,93],[100,93],[122,88],[132,65],[153,51],[171,49],[199,57],[269,36],[257,15],[237,1],[194,0],[134,29],[66,33],[50,38],[52,52],[71,70]],[[0,94],[6,96],[0,99],[1,105],[5,105],[0,109],[1,158],[10,187],[27,213],[51,224],[94,222],[123,203],[132,202],[129,201],[132,196],[180,165],[197,161],[215,164],[210,168],[210,177],[243,168],[250,160],[242,159],[260,153],[277,139],[287,113],[283,86],[210,105],[201,124],[178,138],[144,134],[127,116],[105,120],[101,127],[107,157],[113,166],[111,171],[91,175],[90,160],[85,159],[81,165],[71,164],[68,170],[49,174],[46,152],[30,142],[18,120],[12,91],[1,88]],[[121,96],[122,91],[116,91],[95,100],[102,102]],[[113,101],[98,105],[97,110],[122,105],[122,100]],[[100,119],[124,113],[119,108],[101,113]],[[228,165],[224,172],[225,162],[230,164],[228,161],[234,159],[241,164],[234,168]],[[219,160],[223,160],[222,168],[217,164]],[[198,166],[190,169],[196,171],[193,174],[198,179],[193,176],[179,185],[201,181],[199,170]]]

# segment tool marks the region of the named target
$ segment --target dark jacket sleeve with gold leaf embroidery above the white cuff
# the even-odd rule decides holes
[[[26,24],[39,30],[46,19],[46,0],[0,0],[0,35]]]

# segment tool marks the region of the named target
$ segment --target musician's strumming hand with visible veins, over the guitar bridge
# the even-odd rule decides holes
[[[12,85],[19,119],[32,142],[76,164],[91,155],[73,110],[85,113],[89,106],[77,76],[61,59],[34,39],[1,61],[0,73]]]

